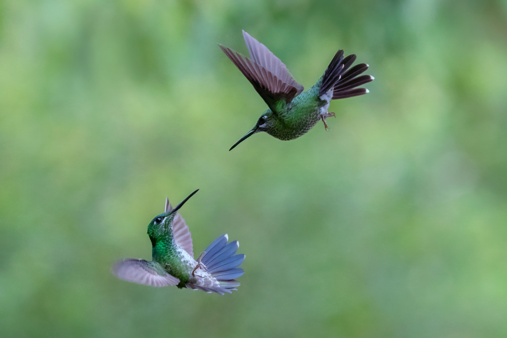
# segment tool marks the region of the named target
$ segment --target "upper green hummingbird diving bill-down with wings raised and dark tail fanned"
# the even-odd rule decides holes
[[[343,57],[339,50],[322,77],[304,93],[303,86],[294,80],[287,67],[271,51],[243,30],[243,37],[250,53],[246,57],[232,49],[219,45],[231,61],[250,81],[269,109],[263,112],[256,125],[229,149],[230,151],[251,135],[265,131],[281,140],[292,140],[305,134],[318,120],[335,116],[328,112],[331,100],[369,93],[366,88],[356,88],[373,81],[370,75],[362,75],[368,64],[349,67],[355,55]]]

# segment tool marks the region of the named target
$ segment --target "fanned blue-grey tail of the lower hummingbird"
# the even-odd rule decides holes
[[[243,269],[238,267],[245,260],[245,255],[242,253],[236,255],[239,243],[233,241],[227,244],[228,239],[227,235],[217,238],[206,248],[201,258],[207,272],[220,284],[220,286],[208,288],[209,291],[231,293],[240,285],[236,278],[244,274]]]

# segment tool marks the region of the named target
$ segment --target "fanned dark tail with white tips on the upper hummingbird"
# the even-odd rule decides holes
[[[351,54],[343,58],[343,50],[339,50],[322,76],[319,96],[333,89],[333,100],[353,97],[368,93],[366,88],[356,88],[373,81],[370,75],[359,76],[368,69],[368,64],[360,63],[352,68],[356,56]]]

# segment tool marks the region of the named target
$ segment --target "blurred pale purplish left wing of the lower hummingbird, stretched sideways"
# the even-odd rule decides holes
[[[128,258],[113,266],[113,274],[125,281],[149,286],[176,285],[179,279],[169,275],[157,262]]]

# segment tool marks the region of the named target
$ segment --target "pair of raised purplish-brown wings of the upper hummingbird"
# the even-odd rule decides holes
[[[243,37],[250,53],[249,58],[228,47],[219,46],[250,81],[270,109],[276,112],[278,101],[291,102],[304,88],[294,80],[285,64],[266,46],[253,39],[244,30]]]

